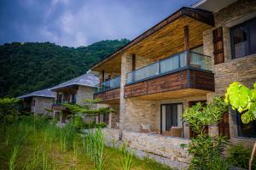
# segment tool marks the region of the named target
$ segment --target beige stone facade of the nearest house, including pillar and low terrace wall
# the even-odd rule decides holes
[[[122,139],[129,144],[131,148],[143,150],[158,156],[167,157],[172,161],[189,163],[190,157],[185,150],[179,147],[179,144],[189,143],[189,127],[183,124],[183,137],[174,138],[165,137],[160,134],[140,133],[141,125],[149,123],[151,129],[160,130],[160,105],[182,103],[183,109],[189,107],[190,101],[207,100],[211,102],[216,95],[224,96],[226,88],[231,82],[242,82],[248,87],[256,82],[256,54],[231,59],[230,48],[230,26],[235,26],[242,21],[256,16],[256,1],[238,0],[236,3],[214,13],[215,26],[204,31],[203,51],[212,59],[212,71],[215,80],[215,92],[201,96],[187,96],[180,99],[150,100],[139,97],[125,98],[124,88],[126,83],[126,74],[131,71],[131,54],[122,54],[121,56],[121,82],[120,82],[120,100],[119,100],[119,131],[117,129],[105,129],[104,133],[108,140]],[[212,31],[218,27],[223,28],[224,41],[224,63],[214,65]],[[152,63],[150,59],[140,56],[136,57],[136,69]],[[230,141],[232,144],[242,143],[247,147],[252,147],[255,139],[246,139],[238,137],[236,117],[229,113],[230,123]],[[210,135],[218,135],[217,124],[208,128]]]

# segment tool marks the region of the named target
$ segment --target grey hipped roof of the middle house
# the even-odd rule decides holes
[[[66,88],[66,87],[73,86],[73,85],[87,86],[87,87],[95,88],[98,83],[99,83],[99,78],[96,77],[95,75],[84,74],[80,77],[76,77],[67,82],[58,84],[55,87],[50,88],[50,90],[55,90],[58,88]]]

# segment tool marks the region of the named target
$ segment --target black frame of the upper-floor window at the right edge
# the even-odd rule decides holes
[[[241,24],[238,24],[236,26],[230,27],[231,59],[239,59],[239,58],[242,58],[242,57],[246,57],[247,55],[256,54],[256,53],[253,53],[252,49],[251,49],[251,37],[250,37],[251,31],[250,31],[250,24],[249,23],[251,23],[253,21],[256,22],[256,17],[254,17],[253,19],[250,19],[250,20],[246,20],[246,21],[244,21]],[[240,57],[236,57],[233,33],[234,33],[234,30],[236,30],[236,28],[239,28],[241,26],[246,26],[246,29],[247,29],[247,47],[245,49],[246,50],[245,55],[242,55]]]

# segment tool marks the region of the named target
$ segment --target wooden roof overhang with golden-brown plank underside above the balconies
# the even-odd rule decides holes
[[[202,32],[214,26],[212,13],[195,8],[180,8],[123,48],[93,65],[91,70],[120,73],[121,55],[125,53],[137,54],[153,61],[177,54],[184,49],[184,26],[189,26],[190,48],[201,45]]]

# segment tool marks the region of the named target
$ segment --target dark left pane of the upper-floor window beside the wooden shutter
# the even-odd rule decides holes
[[[241,26],[233,30],[233,43],[235,58],[239,58],[247,54],[246,26]]]

